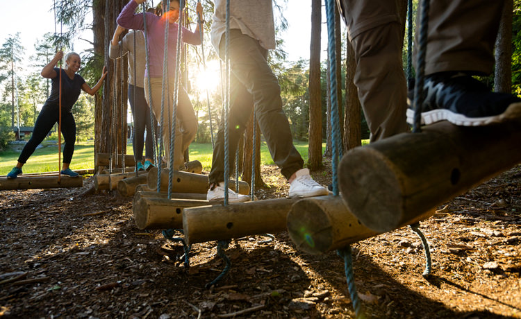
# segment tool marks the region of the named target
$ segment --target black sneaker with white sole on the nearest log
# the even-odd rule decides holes
[[[411,93],[411,92],[409,92]],[[447,120],[456,126],[486,126],[521,120],[521,98],[490,92],[486,85],[466,74],[433,74],[425,78],[422,124]],[[407,123],[413,125],[413,94],[408,94]]]

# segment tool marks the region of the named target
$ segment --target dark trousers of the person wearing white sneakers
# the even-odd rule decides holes
[[[224,35],[220,52],[224,60]],[[233,171],[235,150],[244,132],[251,112],[256,111],[258,125],[263,132],[272,158],[286,179],[304,165],[299,152],[293,146],[288,117],[282,110],[281,88],[272,69],[267,64],[267,50],[257,40],[243,35],[239,30],[230,31],[230,109],[229,109],[229,164]],[[224,181],[224,121],[223,118],[213,148],[212,169],[208,180],[211,184]]]

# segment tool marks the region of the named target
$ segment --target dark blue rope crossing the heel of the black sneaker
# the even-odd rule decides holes
[[[416,81],[414,87],[414,126],[413,132],[422,132],[422,101],[424,100],[423,85],[425,80],[425,57],[427,55],[427,29],[429,26],[429,0],[421,1],[420,38],[418,39],[418,54],[416,62]]]

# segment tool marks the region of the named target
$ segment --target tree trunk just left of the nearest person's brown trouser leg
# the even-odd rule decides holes
[[[347,58],[345,72],[345,117],[344,117],[344,153],[347,150],[361,146],[361,104],[358,99],[358,89],[353,83],[356,62],[353,46],[347,42]]]

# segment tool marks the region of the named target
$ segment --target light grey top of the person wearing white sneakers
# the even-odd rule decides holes
[[[226,33],[226,0],[215,0],[210,36],[219,53],[219,43]],[[272,0],[231,0],[230,28],[253,37],[264,49],[275,49],[275,24]]]

